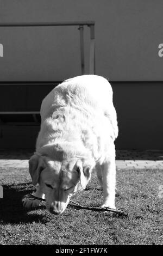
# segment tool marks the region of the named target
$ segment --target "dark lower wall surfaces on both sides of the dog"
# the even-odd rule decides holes
[[[111,86],[119,126],[116,148],[162,149],[163,82],[112,82]],[[40,94],[36,97],[38,86],[16,86],[15,89],[13,86],[6,86],[3,94],[0,94],[0,108],[3,111],[39,111],[43,97],[52,87],[48,84],[41,86]],[[5,104],[3,99],[6,99]],[[10,121],[14,121],[13,119],[31,121],[27,116],[10,117]],[[34,148],[38,132],[39,126],[1,124],[0,148]]]

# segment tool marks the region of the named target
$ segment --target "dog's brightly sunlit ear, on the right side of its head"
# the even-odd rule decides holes
[[[83,167],[82,161],[79,160],[76,163],[76,170],[79,172],[80,184],[84,190],[91,176],[91,168],[89,166]]]

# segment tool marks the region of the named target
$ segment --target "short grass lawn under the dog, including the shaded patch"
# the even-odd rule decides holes
[[[130,206],[128,217],[110,212],[66,209],[53,216],[45,209],[27,211],[22,198],[34,187],[27,169],[0,169],[4,198],[0,199],[1,245],[162,245],[163,172],[157,169],[118,169],[116,206]],[[102,203],[96,178],[72,200],[89,206]]]

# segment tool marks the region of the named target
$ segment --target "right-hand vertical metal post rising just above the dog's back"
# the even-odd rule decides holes
[[[95,74],[95,26],[90,25],[90,74]]]

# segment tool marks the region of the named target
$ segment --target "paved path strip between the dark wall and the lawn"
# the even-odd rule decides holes
[[[33,150],[0,151],[0,168],[28,168],[28,160]],[[117,150],[118,169],[162,169],[163,150]]]

